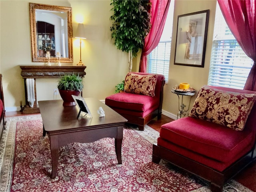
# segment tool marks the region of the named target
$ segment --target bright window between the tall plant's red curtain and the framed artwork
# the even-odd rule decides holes
[[[170,2],[160,42],[158,43],[158,46],[156,46],[156,48],[147,56],[147,72],[164,75],[166,83],[168,83],[170,65],[173,12],[174,0]]]

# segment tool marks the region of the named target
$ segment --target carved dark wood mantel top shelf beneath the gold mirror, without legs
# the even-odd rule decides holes
[[[64,74],[79,74],[84,77],[86,66],[63,65],[63,66],[46,66],[46,65],[20,65],[22,78],[60,78]]]

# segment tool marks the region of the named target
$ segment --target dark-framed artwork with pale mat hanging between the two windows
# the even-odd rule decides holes
[[[175,65],[204,67],[210,10],[178,16]]]

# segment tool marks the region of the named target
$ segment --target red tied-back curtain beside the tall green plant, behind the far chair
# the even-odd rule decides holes
[[[151,13],[151,29],[145,38],[144,48],[140,57],[139,72],[146,72],[147,69],[147,55],[158,45],[170,6],[170,0],[150,0],[152,3]]]

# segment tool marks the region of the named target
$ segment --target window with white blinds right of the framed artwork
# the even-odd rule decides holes
[[[230,32],[217,3],[208,85],[243,89],[253,60]]]

